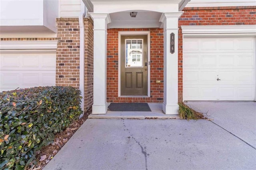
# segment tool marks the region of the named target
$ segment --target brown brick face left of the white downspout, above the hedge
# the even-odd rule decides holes
[[[79,89],[80,28],[78,18],[56,18],[56,85]]]

